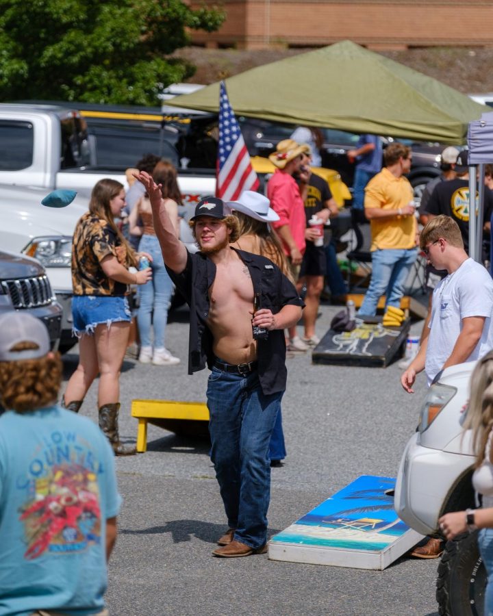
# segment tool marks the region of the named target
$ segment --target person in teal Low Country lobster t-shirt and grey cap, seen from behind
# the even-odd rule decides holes
[[[0,615],[108,615],[114,454],[92,421],[56,404],[61,381],[45,324],[1,316]]]

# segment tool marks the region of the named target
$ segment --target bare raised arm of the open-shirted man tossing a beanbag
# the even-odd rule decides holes
[[[170,219],[162,199],[161,185],[156,184],[151,175],[145,171],[134,173],[134,177],[145,186],[149,195],[153,211],[154,230],[160,242],[164,263],[173,272],[180,274],[186,266],[187,251],[184,243],[180,242],[176,236],[173,221]]]

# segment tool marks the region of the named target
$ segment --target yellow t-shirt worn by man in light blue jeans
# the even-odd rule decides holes
[[[366,185],[364,207],[399,209],[413,200],[412,185],[404,177],[395,177],[383,168]],[[392,216],[370,220],[371,251],[403,250],[416,246],[416,216]]]

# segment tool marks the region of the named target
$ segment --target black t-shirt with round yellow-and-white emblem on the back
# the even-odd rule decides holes
[[[490,222],[493,212],[493,193],[485,188],[483,222]],[[476,198],[478,195],[476,194]],[[453,179],[440,182],[427,203],[426,212],[439,216],[451,216],[459,225],[464,248],[469,246],[469,181]]]

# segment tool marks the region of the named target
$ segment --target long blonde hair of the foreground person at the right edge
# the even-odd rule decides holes
[[[478,467],[483,463],[486,444],[493,428],[493,351],[480,359],[472,371],[468,411],[462,427],[464,430],[472,430],[475,467]]]

